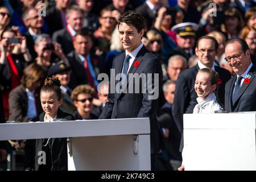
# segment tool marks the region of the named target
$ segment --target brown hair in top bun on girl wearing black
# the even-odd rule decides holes
[[[60,86],[61,84],[58,77],[47,77],[46,80],[44,80],[44,85],[40,90],[40,94],[42,92],[55,92],[58,100],[60,101],[62,98]]]

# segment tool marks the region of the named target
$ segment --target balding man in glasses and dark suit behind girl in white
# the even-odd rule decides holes
[[[174,116],[177,127],[180,133],[183,131],[183,114],[193,113],[193,109],[197,104],[197,94],[195,92],[196,74],[201,68],[212,68],[218,73],[218,100],[224,104],[225,84],[230,79],[230,72],[224,68],[213,65],[216,51],[218,49],[217,40],[211,36],[202,36],[196,44],[196,55],[199,62],[195,67],[189,68],[180,73],[176,82],[174,105],[172,114]],[[181,148],[183,144],[181,142]]]

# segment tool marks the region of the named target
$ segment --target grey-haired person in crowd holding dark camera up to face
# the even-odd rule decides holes
[[[44,68],[49,68],[52,63],[63,60],[65,65],[69,66],[69,61],[63,53],[60,44],[52,42],[47,34],[39,35],[35,40],[35,51],[38,54],[36,63]],[[54,54],[53,54],[54,53]]]

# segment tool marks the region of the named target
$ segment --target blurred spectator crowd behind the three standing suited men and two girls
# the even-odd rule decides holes
[[[0,122],[27,122],[42,113],[39,90],[47,76],[61,82],[61,109],[76,119],[97,119],[109,88],[105,81],[97,89],[97,76],[110,76],[114,57],[123,51],[117,20],[135,10],[146,20],[142,42],[159,57],[164,76],[157,115],[166,151],[159,154],[157,169],[176,170],[181,134],[171,109],[177,77],[197,64],[196,42],[204,35],[218,42],[214,64],[232,75],[224,59],[230,38],[246,40],[255,64],[255,5],[255,0],[2,0]],[[24,142],[1,145],[11,153],[22,151]]]

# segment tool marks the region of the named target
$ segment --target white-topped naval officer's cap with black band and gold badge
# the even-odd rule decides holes
[[[192,22],[179,23],[171,28],[179,36],[195,36],[197,29],[198,24]]]

